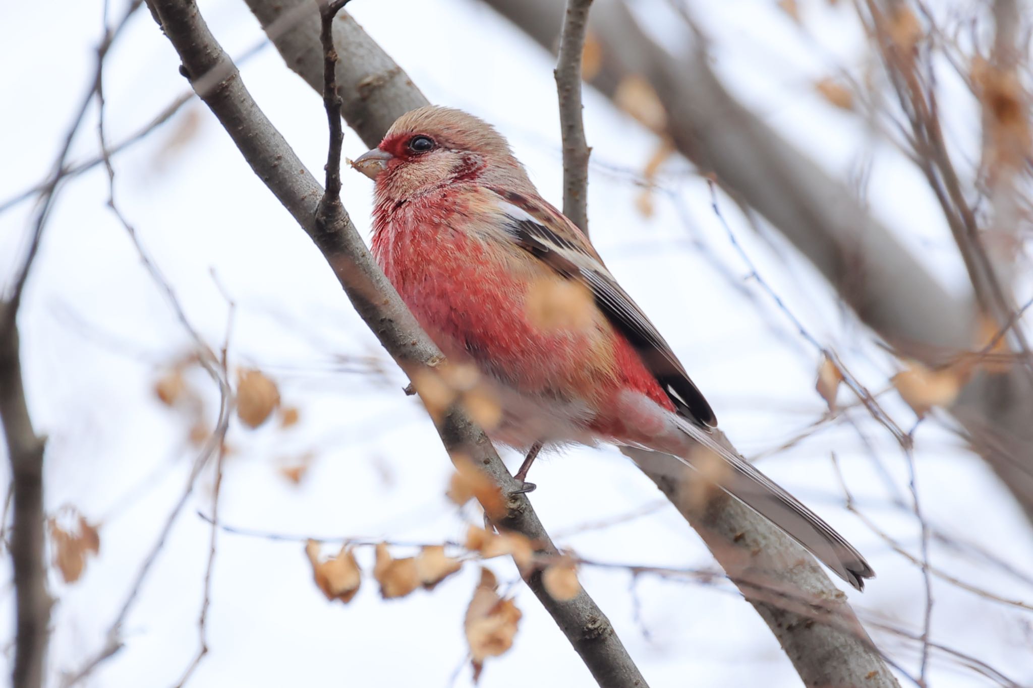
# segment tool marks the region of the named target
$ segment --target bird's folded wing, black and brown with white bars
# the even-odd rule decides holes
[[[678,413],[703,426],[717,418],[656,326],[631,300],[573,223],[549,203],[524,194],[491,190],[507,217],[505,229],[518,245],[557,272],[587,286],[596,304],[641,357]]]

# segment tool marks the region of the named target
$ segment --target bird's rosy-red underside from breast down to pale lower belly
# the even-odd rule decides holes
[[[612,332],[591,299],[587,313],[545,314],[535,290],[569,284],[522,252],[439,225],[384,231],[374,256],[419,324],[450,360],[473,361],[498,397],[493,438],[591,441],[585,428],[618,384]],[[569,321],[569,322],[568,322]]]

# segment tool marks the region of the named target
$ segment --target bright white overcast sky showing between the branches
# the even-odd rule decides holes
[[[238,0],[202,0],[201,10],[232,55],[261,38]],[[934,3],[941,5],[943,3]],[[952,3],[967,6],[970,3]],[[935,201],[917,173],[865,123],[814,94],[816,78],[869,57],[849,3],[801,0],[806,33],[774,1],[689,3],[713,39],[716,68],[731,90],[832,174],[848,177],[871,157],[868,201],[950,289],[965,286],[961,261]],[[354,2],[359,23],[428,97],[496,124],[512,141],[542,194],[560,204],[559,126],[553,61],[527,37],[473,0]],[[116,2],[118,15],[122,3]],[[97,1],[6,3],[0,8],[0,76],[6,135],[0,197],[42,178],[72,110],[88,86],[100,35]],[[661,0],[637,13],[661,38],[670,31]],[[410,30],[418,18],[418,31]],[[399,30],[399,27],[407,27]],[[55,46],[61,46],[57,50]],[[476,56],[473,58],[472,56]],[[118,141],[187,88],[179,62],[146,11],[113,51],[104,73],[108,136]],[[242,66],[246,85],[311,170],[325,156],[325,119],[314,92],[267,47]],[[949,96],[954,86],[944,86]],[[957,98],[944,107],[953,135],[971,152],[978,113]],[[953,101],[951,101],[953,102]],[[707,185],[671,159],[656,212],[636,210],[632,182],[657,141],[604,98],[586,94],[593,146],[589,212],[593,240],[625,288],[666,334],[722,426],[745,453],[778,447],[819,418],[813,390],[818,364],[787,319],[753,282],[710,208]],[[71,158],[96,151],[91,110]],[[344,153],[366,150],[346,131]],[[623,168],[626,172],[614,172]],[[352,313],[322,258],[250,172],[217,122],[197,102],[116,159],[120,207],[173,285],[190,322],[213,347],[226,335],[227,302],[237,303],[231,366],[254,365],[280,385],[301,422],[256,431],[233,424],[222,483],[224,523],[300,536],[383,537],[397,542],[462,539],[475,523],[444,498],[450,464],[424,411],[401,393],[404,378]],[[346,173],[342,198],[369,233],[371,185]],[[193,457],[189,421],[155,399],[154,381],[190,341],[140,264],[125,230],[106,209],[106,178],[96,169],[61,193],[46,229],[22,313],[31,412],[50,436],[46,505],[73,505],[100,522],[100,556],[84,577],[52,587],[52,683],[99,649],[128,587],[171,505]],[[730,227],[765,281],[822,342],[836,348],[873,390],[886,387],[894,363],[845,318],[824,284],[777,234],[759,237],[723,199]],[[22,260],[32,203],[0,215],[0,284]],[[698,240],[707,248],[694,248]],[[726,274],[731,275],[729,282]],[[732,283],[752,295],[746,298]],[[341,360],[376,357],[382,373]],[[356,372],[355,369],[358,368]],[[217,395],[191,373],[214,421]],[[846,401],[846,396],[841,397]],[[894,394],[885,406],[903,427],[911,411]],[[919,569],[844,507],[829,461],[835,450],[865,514],[909,552],[918,524],[887,499],[907,498],[905,457],[877,425],[854,417],[893,483],[875,469],[857,432],[831,424],[761,466],[848,536],[879,574],[863,595],[848,591],[865,618],[920,632],[925,592]],[[1020,509],[990,471],[935,423],[916,435],[917,483],[928,520],[1029,570],[1033,536]],[[315,458],[301,485],[279,468]],[[507,457],[515,465],[519,457]],[[3,464],[6,465],[6,464]],[[546,457],[535,466],[532,502],[561,546],[607,562],[699,568],[712,560],[698,537],[626,459],[612,449]],[[126,646],[85,685],[175,685],[197,650],[197,618],[209,552],[211,509],[206,473],[147,579],[125,627]],[[659,500],[659,501],[658,501]],[[657,504],[649,515],[580,533],[581,524]],[[219,533],[210,652],[190,685],[465,686],[470,683],[462,619],[477,581],[467,565],[433,593],[383,601],[372,582],[348,605],[327,602],[311,581],[304,546]],[[330,549],[327,548],[327,552]],[[400,555],[409,551],[399,549]],[[934,565],[1008,598],[1033,601],[1033,587],[991,565],[935,545]],[[372,552],[359,560],[371,565]],[[512,566],[493,560],[500,580]],[[6,560],[2,579],[9,581]],[[582,582],[614,622],[654,687],[796,686],[800,680],[752,609],[728,585],[702,586],[622,569],[586,568]],[[3,637],[12,636],[12,588],[0,597]],[[591,685],[591,678],[533,595],[511,587],[524,619],[513,649],[490,660],[481,685]],[[1031,616],[934,582],[932,636],[989,663],[1020,684],[1033,683]],[[637,609],[637,612],[636,612]],[[912,644],[873,629],[895,661],[916,673]],[[10,660],[9,647],[4,661]],[[6,669],[5,669],[6,670]],[[934,653],[930,685],[990,685]]]

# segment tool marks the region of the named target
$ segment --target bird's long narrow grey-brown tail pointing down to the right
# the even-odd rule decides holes
[[[693,447],[690,451],[680,452],[686,456],[667,456],[697,472],[702,467],[700,461],[713,460],[710,457],[716,456],[720,460],[719,469],[702,470],[702,479],[709,477],[722,490],[781,528],[857,590],[864,589],[865,579],[875,578],[875,571],[865,557],[843,535],[754,468],[734,451],[720,430],[707,430],[683,418],[678,418],[678,426],[694,444],[710,452],[700,452]],[[644,451],[640,448],[625,450],[632,458]]]

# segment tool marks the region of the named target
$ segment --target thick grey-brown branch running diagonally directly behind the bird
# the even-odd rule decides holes
[[[314,89],[321,90],[321,76],[318,72],[321,61],[318,47],[318,18],[314,21],[298,21],[292,28],[282,29],[284,26],[282,18],[296,11],[295,7],[303,5],[306,0],[246,1],[270,34],[287,65]],[[558,8],[559,4],[555,6]],[[312,11],[314,12],[314,8]],[[555,18],[557,32],[561,24],[559,12],[560,9],[557,9]],[[353,109],[350,116],[348,111],[344,111],[348,124],[372,148],[380,141],[395,119],[405,111],[392,110],[390,107],[400,103],[405,107],[418,107],[427,101],[411,81],[404,77],[401,68],[390,61],[390,58],[353,20],[342,13],[342,20],[337,22],[337,25],[335,41],[338,52],[342,55],[347,52],[353,56],[353,59],[343,59],[338,64],[338,77],[344,79],[340,83],[377,85],[368,92],[366,111]],[[346,42],[342,43],[342,40]],[[368,63],[365,62],[367,58]],[[342,95],[347,99],[346,93]],[[372,122],[380,123],[382,128],[374,129],[371,127]],[[664,494],[688,518],[688,514],[683,511],[684,504],[680,504],[678,489],[671,477],[658,473],[656,470],[651,472],[648,463],[639,463],[639,467],[661,489],[667,488],[664,489]],[[768,562],[764,568],[778,571],[774,582],[777,587],[789,591],[786,595],[778,599],[770,595],[758,597],[759,593],[756,591],[765,586],[749,584],[742,577],[738,582],[742,584],[741,589],[744,594],[757,608],[794,666],[801,671],[805,683],[887,687],[897,685],[842,593],[836,589],[817,562],[784,533],[733,499],[715,502],[706,519],[693,518],[690,523],[698,526],[700,533],[706,533],[703,537],[708,545],[722,566],[728,567],[726,570],[730,574],[742,570],[743,566],[739,562],[744,557],[752,561],[753,567],[756,568],[758,559],[753,553],[761,551],[770,553],[772,558],[764,559]],[[732,576],[734,577],[734,574]],[[833,605],[834,611],[829,612],[826,609],[823,618],[819,619],[820,622],[814,623],[814,615],[809,614],[807,610],[793,612],[784,609],[786,599],[790,598],[797,600],[793,602],[797,608],[799,600],[806,599],[815,603],[820,601],[822,609]],[[840,661],[844,657],[847,659]],[[829,666],[832,663],[836,666]],[[836,681],[828,681],[829,676],[839,678]]]

